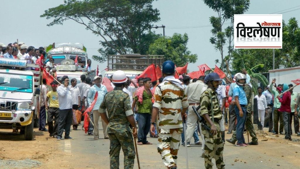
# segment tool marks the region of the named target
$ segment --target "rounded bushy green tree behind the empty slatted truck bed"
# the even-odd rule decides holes
[[[188,36],[174,33],[172,37],[161,37],[149,47],[148,54],[164,55],[164,60],[172,60],[177,66],[197,61],[197,54],[191,54],[187,48]]]

